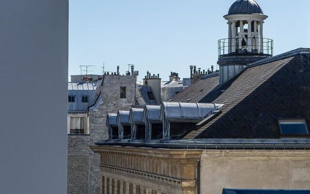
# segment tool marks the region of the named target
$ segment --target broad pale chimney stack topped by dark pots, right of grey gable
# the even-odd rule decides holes
[[[145,78],[143,79],[143,84],[148,85],[152,88],[155,102],[157,105],[160,105],[161,103],[161,87],[160,87],[161,78],[159,78],[159,74],[157,74],[157,76],[155,76],[155,74],[151,76],[151,73],[147,71],[147,76],[145,76]]]

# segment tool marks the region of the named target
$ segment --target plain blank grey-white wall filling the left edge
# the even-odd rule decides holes
[[[1,0],[0,18],[0,194],[65,194],[68,0]]]

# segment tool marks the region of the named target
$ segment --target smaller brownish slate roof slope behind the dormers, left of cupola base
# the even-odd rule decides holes
[[[172,97],[173,102],[199,102],[206,94],[212,91],[219,83],[219,74],[213,73],[204,76],[196,83],[188,86],[182,92]]]

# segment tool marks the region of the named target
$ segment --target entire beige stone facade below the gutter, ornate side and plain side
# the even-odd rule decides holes
[[[310,150],[91,146],[101,194],[220,194],[223,188],[310,189]]]

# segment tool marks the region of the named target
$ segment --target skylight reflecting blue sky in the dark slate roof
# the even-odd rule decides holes
[[[279,120],[283,136],[309,136],[305,120]]]

